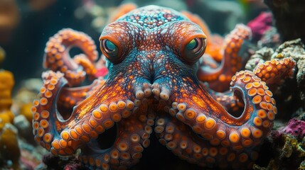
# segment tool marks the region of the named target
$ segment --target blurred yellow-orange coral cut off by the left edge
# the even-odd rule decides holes
[[[0,71],[0,130],[6,123],[13,123],[14,114],[11,113],[11,91],[14,86],[13,74],[9,71]]]

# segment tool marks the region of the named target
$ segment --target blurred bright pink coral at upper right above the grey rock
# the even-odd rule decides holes
[[[272,27],[272,13],[262,12],[247,24],[252,30],[253,40],[260,40],[266,30]]]

